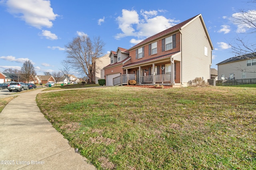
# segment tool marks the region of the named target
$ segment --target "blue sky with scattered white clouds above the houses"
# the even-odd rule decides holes
[[[248,30],[234,24],[248,0],[0,0],[0,71],[32,61],[36,73],[59,71],[65,48],[83,34],[100,36],[104,52],[129,49],[140,41],[202,14],[214,45],[212,68],[233,57],[228,43]],[[80,75],[77,75],[78,77]]]

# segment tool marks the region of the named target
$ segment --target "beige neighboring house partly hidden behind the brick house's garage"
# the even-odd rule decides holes
[[[95,83],[98,84],[99,79],[104,79],[104,67],[110,64],[110,53],[103,55],[95,60]]]

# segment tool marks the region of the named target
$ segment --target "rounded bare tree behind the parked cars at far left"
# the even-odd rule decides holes
[[[36,76],[36,71],[34,68],[34,65],[31,63],[30,60],[27,60],[23,63],[21,70],[21,77],[24,79],[26,82],[29,83],[30,80],[34,81],[34,77]]]

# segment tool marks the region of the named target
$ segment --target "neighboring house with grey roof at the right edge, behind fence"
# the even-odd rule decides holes
[[[218,80],[256,78],[256,55],[254,53],[232,57],[216,65],[218,65]]]

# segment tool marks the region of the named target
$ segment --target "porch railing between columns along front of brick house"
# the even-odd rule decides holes
[[[154,75],[155,81],[153,82],[153,75],[141,76],[140,82],[141,83],[164,83],[171,81],[171,74],[160,74]]]

